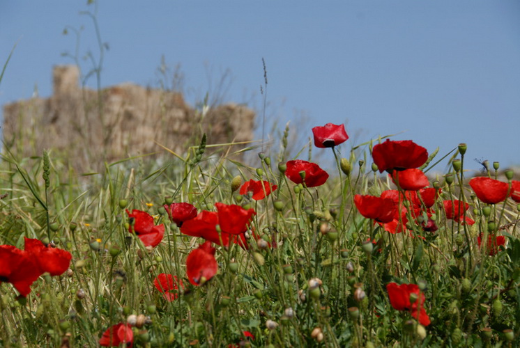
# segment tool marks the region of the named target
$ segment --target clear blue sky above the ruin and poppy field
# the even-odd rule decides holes
[[[61,54],[75,51],[66,26],[83,26],[79,53],[98,57],[82,10],[94,6],[1,1],[1,65],[17,47],[0,104],[30,97],[35,86],[50,95],[52,65],[72,63]],[[314,125],[346,122],[352,145],[404,132],[394,139],[441,154],[467,143],[471,168],[475,157],[520,165],[520,1],[100,0],[98,22],[109,45],[103,86],[158,86],[164,55],[180,64],[191,104],[220,89],[224,102],[261,111],[265,58],[267,114],[280,128],[305,115],[305,136]]]

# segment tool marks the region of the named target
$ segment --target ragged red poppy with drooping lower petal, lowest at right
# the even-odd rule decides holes
[[[428,326],[430,319],[426,313],[425,307],[425,294],[420,292],[419,287],[415,284],[402,284],[388,283],[386,285],[388,291],[388,298],[390,304],[396,310],[409,310],[412,317],[418,319],[420,324]],[[414,303],[410,303],[410,295],[416,294],[417,300]],[[418,309],[419,308],[419,309]]]

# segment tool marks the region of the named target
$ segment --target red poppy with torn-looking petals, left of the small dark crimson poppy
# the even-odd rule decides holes
[[[162,237],[165,236],[165,226],[162,223],[155,226],[153,216],[141,210],[133,209],[130,214],[128,209],[126,209],[126,214],[130,218],[130,226],[128,226],[130,233],[135,232],[144,246],[155,247],[159,245]]]

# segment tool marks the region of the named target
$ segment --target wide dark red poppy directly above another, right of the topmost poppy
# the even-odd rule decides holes
[[[425,164],[428,152],[411,140],[390,141],[377,144],[372,150],[372,158],[379,168],[379,173],[418,168]]]

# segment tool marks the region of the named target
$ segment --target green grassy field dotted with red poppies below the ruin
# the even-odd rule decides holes
[[[4,149],[1,347],[516,346],[512,172],[467,180],[464,144],[437,179],[412,141],[342,158],[332,125],[294,161],[290,132],[255,166],[202,139],[88,177]]]

